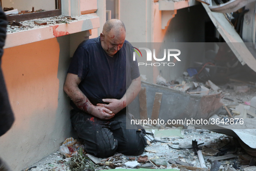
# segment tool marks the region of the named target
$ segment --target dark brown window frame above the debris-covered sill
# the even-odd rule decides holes
[[[0,0],[2,9],[4,7],[10,8],[11,6],[4,6],[2,0]],[[25,20],[30,20],[30,19],[40,19],[40,18],[46,18],[46,17],[51,17],[51,16],[60,16],[62,14],[62,9],[61,9],[61,0],[55,0],[55,4],[53,9],[51,10],[46,10],[44,9],[35,9],[32,7],[31,12],[26,9],[26,10],[19,10],[18,14],[10,14],[7,15],[7,20],[8,21],[16,21],[16,22],[22,22]],[[15,9],[13,9],[15,10]],[[17,10],[17,9],[16,9]]]

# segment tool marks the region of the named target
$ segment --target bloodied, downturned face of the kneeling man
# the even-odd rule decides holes
[[[125,30],[120,28],[120,30],[110,30],[107,33],[100,34],[101,46],[104,51],[113,56],[123,47],[123,43],[125,41]]]

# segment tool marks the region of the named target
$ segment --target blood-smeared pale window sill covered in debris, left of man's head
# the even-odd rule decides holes
[[[47,25],[33,25],[32,23],[34,23],[34,20],[37,20],[33,19],[25,21],[26,23],[30,22],[31,25],[33,25],[32,27],[28,27],[23,30],[20,30],[17,27],[15,30],[7,28],[4,48],[11,48],[22,44],[42,41],[49,38],[56,38],[100,27],[100,18],[96,15],[96,13],[77,16],[75,17],[76,20],[67,20],[68,23],[60,22],[56,24],[55,22],[52,22],[52,18],[53,17],[43,19],[47,21]]]

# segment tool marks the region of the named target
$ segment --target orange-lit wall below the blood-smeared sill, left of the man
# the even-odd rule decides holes
[[[55,152],[71,136],[62,90],[69,60],[69,35],[4,49],[2,69],[16,120],[0,137],[0,156],[13,171]]]

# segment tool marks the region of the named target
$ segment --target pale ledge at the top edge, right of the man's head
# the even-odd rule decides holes
[[[186,8],[189,6],[194,6],[196,4],[199,4],[196,0],[180,0],[180,1],[172,1],[172,0],[159,0],[159,10],[160,11],[169,11],[169,10],[177,10]]]

